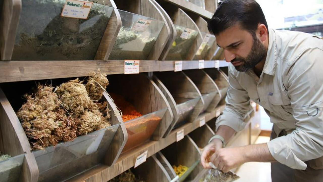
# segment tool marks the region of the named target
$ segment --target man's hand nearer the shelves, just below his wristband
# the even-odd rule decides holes
[[[202,155],[201,155],[201,163],[204,168],[211,169],[212,167],[209,165],[210,158],[212,154],[214,154],[217,150],[222,148],[222,141],[218,138],[215,138],[210,142],[208,145],[206,145],[203,149]]]

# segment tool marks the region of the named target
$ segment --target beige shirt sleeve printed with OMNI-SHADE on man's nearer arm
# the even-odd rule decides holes
[[[278,162],[305,170],[304,161],[323,155],[323,51],[310,48],[297,58],[285,74],[296,130],[267,145]]]

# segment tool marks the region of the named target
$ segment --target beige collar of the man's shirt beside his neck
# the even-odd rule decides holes
[[[263,69],[263,73],[269,75],[275,75],[277,65],[277,47],[276,47],[276,33],[272,28],[268,28],[269,43],[266,61]]]

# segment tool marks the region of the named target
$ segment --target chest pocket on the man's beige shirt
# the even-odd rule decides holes
[[[273,113],[282,120],[293,120],[293,109],[290,106],[290,99],[287,91],[284,93],[269,93],[268,101]]]

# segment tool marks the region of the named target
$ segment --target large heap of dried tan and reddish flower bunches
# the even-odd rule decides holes
[[[102,87],[105,89],[109,84],[104,75],[91,74],[88,89],[77,78],[55,90],[39,84],[34,94],[25,95],[27,101],[17,116],[33,150],[73,141],[79,135],[110,126],[107,103],[98,102],[103,95]]]

